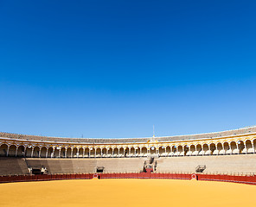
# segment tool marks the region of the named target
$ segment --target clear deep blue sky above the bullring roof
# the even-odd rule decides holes
[[[255,1],[0,1],[0,131],[144,137],[256,124]]]

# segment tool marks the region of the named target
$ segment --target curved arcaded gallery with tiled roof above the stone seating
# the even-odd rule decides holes
[[[254,154],[256,127],[134,139],[82,139],[0,133],[0,156],[35,158],[202,156]]]

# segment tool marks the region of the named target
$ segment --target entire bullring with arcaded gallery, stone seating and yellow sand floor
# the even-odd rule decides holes
[[[0,133],[0,205],[256,206],[255,148],[256,127],[127,139]]]

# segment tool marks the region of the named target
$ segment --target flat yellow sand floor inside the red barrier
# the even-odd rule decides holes
[[[256,185],[171,179],[60,180],[0,185],[0,206],[256,206]]]

